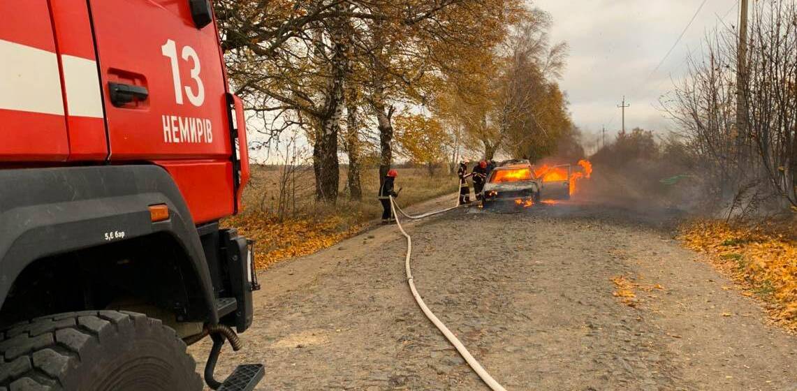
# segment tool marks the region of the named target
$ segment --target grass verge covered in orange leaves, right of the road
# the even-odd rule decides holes
[[[709,254],[712,264],[762,300],[775,323],[797,331],[797,229],[794,221],[748,227],[723,221],[681,226],[688,248]]]

